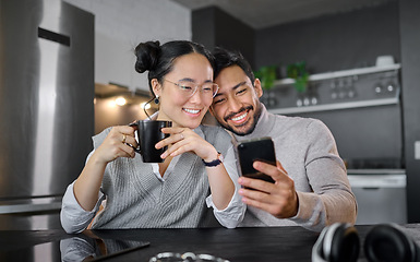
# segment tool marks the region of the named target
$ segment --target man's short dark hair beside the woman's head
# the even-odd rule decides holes
[[[240,51],[230,51],[221,47],[216,47],[213,55],[215,58],[214,79],[217,78],[221,70],[231,66],[238,66],[251,80],[252,85],[254,85],[254,72],[252,71],[250,63],[245,60]]]

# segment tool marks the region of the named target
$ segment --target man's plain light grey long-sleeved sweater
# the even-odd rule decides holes
[[[248,206],[239,226],[302,226],[320,231],[335,222],[355,223],[357,202],[328,128],[320,120],[269,114],[263,106],[254,132],[237,140],[271,136],[276,157],[293,179],[299,199],[295,217],[279,219]]]

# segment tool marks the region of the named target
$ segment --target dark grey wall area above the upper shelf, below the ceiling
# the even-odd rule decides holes
[[[305,61],[310,73],[400,62],[398,2],[260,29],[255,67]],[[286,75],[283,75],[286,76]]]

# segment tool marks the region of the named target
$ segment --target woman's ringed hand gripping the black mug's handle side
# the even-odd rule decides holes
[[[98,163],[108,164],[118,157],[135,156],[134,150],[129,145],[137,146],[134,135],[135,129],[129,126],[113,127],[104,142],[94,153]]]

